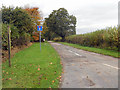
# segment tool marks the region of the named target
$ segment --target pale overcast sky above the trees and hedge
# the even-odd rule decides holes
[[[39,7],[46,18],[53,10],[67,9],[77,18],[76,34],[118,25],[119,0],[0,0],[0,7]]]

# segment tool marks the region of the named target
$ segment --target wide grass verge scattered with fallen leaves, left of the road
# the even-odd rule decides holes
[[[60,57],[49,43],[34,43],[2,64],[3,88],[58,88],[62,72]],[[39,70],[40,69],[40,70]],[[58,78],[59,77],[59,78]]]

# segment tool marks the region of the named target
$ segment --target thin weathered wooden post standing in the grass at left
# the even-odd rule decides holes
[[[10,26],[8,25],[8,55],[9,55],[9,67],[11,67],[11,37],[10,37]]]

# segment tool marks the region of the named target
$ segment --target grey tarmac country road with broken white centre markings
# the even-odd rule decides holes
[[[61,88],[118,88],[118,59],[55,42],[63,63]]]

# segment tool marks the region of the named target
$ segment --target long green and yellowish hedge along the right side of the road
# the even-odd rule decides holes
[[[118,29],[109,27],[95,32],[66,37],[66,42],[82,46],[118,50]]]

